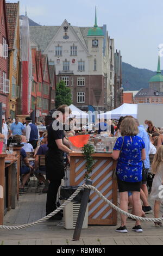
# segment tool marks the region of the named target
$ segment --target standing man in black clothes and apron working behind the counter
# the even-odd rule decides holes
[[[46,174],[47,180],[50,181],[47,202],[46,215],[51,214],[56,206],[58,189],[61,185],[61,180],[65,176],[64,172],[64,152],[69,154],[72,151],[68,148],[69,143],[65,138],[63,124],[71,113],[71,109],[66,105],[60,106],[57,109],[57,118],[48,127],[48,152],[46,154]],[[66,111],[66,112],[65,112]],[[57,214],[51,220],[61,220],[61,215]]]

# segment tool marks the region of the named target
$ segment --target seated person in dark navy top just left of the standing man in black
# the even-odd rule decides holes
[[[43,188],[42,193],[46,193],[48,190],[48,185],[49,182],[48,180],[46,180],[44,178],[43,175],[46,175],[46,166],[39,166],[39,155],[46,155],[47,151],[48,151],[48,147],[47,147],[47,134],[45,136],[45,138],[43,139],[43,143],[39,150],[36,153],[36,157],[35,157],[35,176],[36,178],[39,180],[40,183],[44,183],[45,187]]]

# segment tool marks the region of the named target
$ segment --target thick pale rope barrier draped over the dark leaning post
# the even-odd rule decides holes
[[[126,211],[123,211],[122,209],[118,208],[116,205],[112,204],[106,197],[103,196],[101,192],[97,190],[96,187],[90,186],[90,185],[82,185],[80,186],[76,192],[72,194],[68,200],[64,204],[62,204],[59,208],[57,208],[55,211],[53,211],[51,214],[47,215],[46,217],[41,218],[39,221],[35,221],[32,223],[24,224],[24,225],[17,225],[17,226],[6,226],[6,225],[0,225],[0,229],[4,230],[20,230],[20,229],[25,229],[29,227],[33,227],[37,224],[40,224],[41,222],[47,221],[49,218],[53,217],[55,214],[57,214],[60,210],[64,209],[67,204],[69,204],[77,195],[78,193],[83,190],[83,188],[87,188],[89,190],[94,191],[105,203],[111,206],[112,209],[116,210],[120,214],[126,215],[127,217],[133,218],[134,220],[139,220],[139,221],[148,221],[148,222],[158,222],[158,221],[163,221],[163,218],[142,218],[139,216],[135,216],[133,214],[129,214]]]

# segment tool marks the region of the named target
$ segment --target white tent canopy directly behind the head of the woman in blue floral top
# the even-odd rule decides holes
[[[120,117],[125,117],[126,115],[132,115],[137,118],[137,104],[124,103],[112,111],[97,115],[97,118],[120,119]]]

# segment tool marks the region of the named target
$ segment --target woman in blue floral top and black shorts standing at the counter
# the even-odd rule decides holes
[[[122,137],[118,138],[112,158],[118,160],[116,174],[120,192],[120,208],[128,211],[128,192],[132,192],[134,213],[141,216],[140,188],[142,181],[142,161],[146,159],[145,143],[137,136],[139,130],[133,118],[125,118],[120,126]],[[127,217],[121,215],[121,227],[116,231],[127,233]],[[136,221],[133,231],[142,232],[140,221]]]

